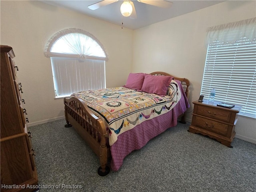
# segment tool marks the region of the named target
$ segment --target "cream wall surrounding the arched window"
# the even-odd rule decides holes
[[[104,46],[107,87],[124,85],[131,71],[132,30],[40,1],[1,1],[1,45],[12,46],[30,125],[63,118],[63,99],[54,99],[50,58],[44,46],[56,32],[81,28]],[[31,124],[32,123],[32,124]]]

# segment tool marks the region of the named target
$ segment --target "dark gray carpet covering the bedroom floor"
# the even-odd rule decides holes
[[[40,192],[255,192],[256,144],[234,148],[178,124],[129,154],[118,172],[97,174],[98,157],[65,120],[29,127]]]

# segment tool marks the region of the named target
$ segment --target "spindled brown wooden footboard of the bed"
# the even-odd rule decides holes
[[[98,174],[105,176],[110,171],[107,165],[108,158],[111,157],[110,147],[106,144],[106,127],[104,122],[95,116],[86,103],[75,96],[64,98],[66,126],[73,126],[82,136],[87,144],[100,158],[100,168]]]

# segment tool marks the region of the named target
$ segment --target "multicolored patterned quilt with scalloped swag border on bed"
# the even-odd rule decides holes
[[[139,92],[125,87],[85,90],[72,94],[82,98],[92,112],[104,120],[110,146],[118,135],[136,125],[170,111],[181,98],[180,88],[170,82],[166,96]]]

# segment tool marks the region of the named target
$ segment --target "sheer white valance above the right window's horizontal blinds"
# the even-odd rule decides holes
[[[209,27],[207,29],[206,47],[209,44],[216,44],[216,42],[231,44],[244,38],[250,42],[255,41],[256,18]]]

